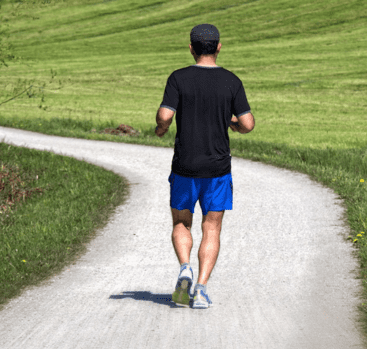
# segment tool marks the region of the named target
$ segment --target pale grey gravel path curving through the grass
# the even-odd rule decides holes
[[[50,282],[0,312],[0,348],[363,348],[358,263],[344,209],[306,175],[232,158],[234,209],[208,283],[214,306],[176,307],[173,149],[47,136],[0,127],[0,140],[84,159],[126,177],[131,195]],[[88,200],[88,198],[86,198]],[[192,266],[202,213],[195,207]]]

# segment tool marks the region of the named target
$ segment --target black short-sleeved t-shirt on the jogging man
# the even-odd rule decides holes
[[[245,89],[235,74],[198,65],[175,70],[160,106],[176,112],[173,173],[192,178],[231,173],[228,128],[232,115],[250,112]]]

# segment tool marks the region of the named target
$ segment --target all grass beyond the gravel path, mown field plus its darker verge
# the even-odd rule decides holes
[[[256,119],[248,135],[230,131],[232,155],[307,173],[344,199],[367,297],[364,1],[4,2],[1,13],[17,60],[0,70],[0,125],[165,147],[175,123],[162,139],[154,127],[167,78],[195,64],[192,27],[216,25],[217,65],[243,81]],[[139,136],[99,133],[119,124]]]

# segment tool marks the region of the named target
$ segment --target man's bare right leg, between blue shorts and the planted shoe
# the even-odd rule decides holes
[[[203,238],[201,240],[198,253],[198,284],[207,284],[217,261],[220,248],[220,232],[222,229],[223,216],[224,210],[219,212],[209,211],[206,216],[203,215],[203,221],[201,223]]]

